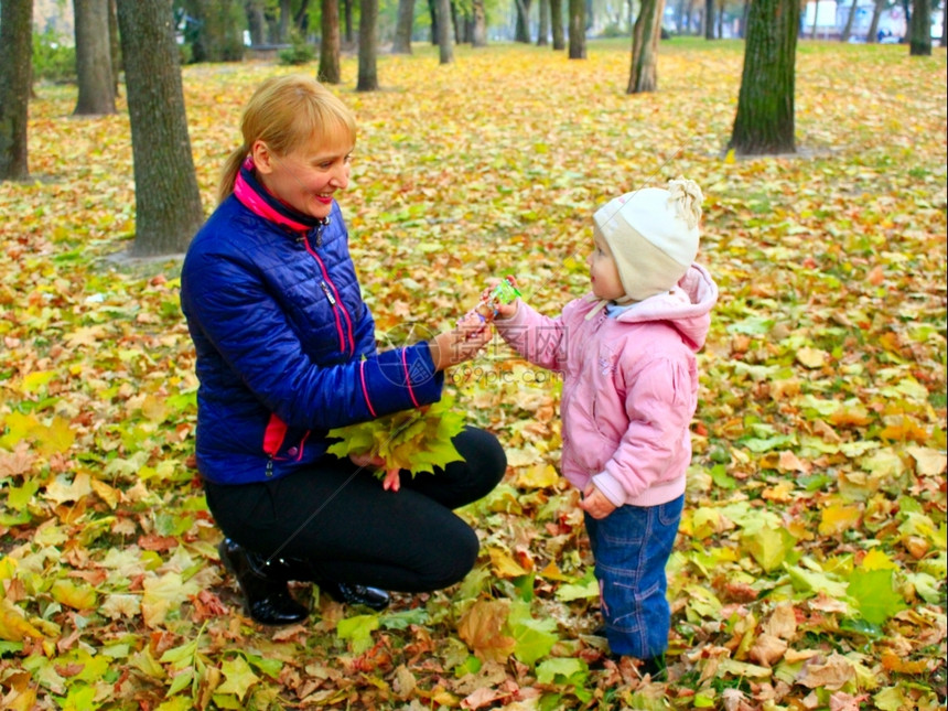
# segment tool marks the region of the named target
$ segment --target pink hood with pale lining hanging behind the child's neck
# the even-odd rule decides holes
[[[623,323],[666,321],[698,352],[704,346],[711,326],[711,309],[717,302],[718,286],[711,274],[704,267],[692,263],[671,291],[640,301],[617,319]]]

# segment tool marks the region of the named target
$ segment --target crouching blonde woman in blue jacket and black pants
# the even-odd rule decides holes
[[[478,551],[451,509],[503,476],[496,439],[465,429],[454,444],[466,461],[389,482],[395,493],[365,466],[379,462],[327,454],[326,432],[435,402],[444,368],[473,357],[488,330],[474,319],[377,353],[335,200],[348,184],[352,114],[315,80],[282,76],[257,89],[241,130],[181,278],[220,559],[250,616],[270,625],[308,616],[289,580],[376,610],[389,590],[451,585]]]

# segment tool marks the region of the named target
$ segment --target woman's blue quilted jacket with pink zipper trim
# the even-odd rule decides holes
[[[181,305],[197,353],[197,466],[220,484],[320,459],[326,431],[437,401],[427,343],[377,353],[338,205],[295,233],[234,195],[192,241]]]

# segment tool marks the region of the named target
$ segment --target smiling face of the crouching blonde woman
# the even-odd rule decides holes
[[[281,202],[310,217],[328,217],[336,191],[349,183],[353,144],[347,136],[334,141],[310,141],[277,155],[263,141],[251,153],[257,176]]]

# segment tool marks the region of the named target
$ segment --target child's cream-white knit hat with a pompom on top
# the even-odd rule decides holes
[[[704,196],[698,183],[679,177],[668,188],[643,187],[593,215],[618,268],[625,299],[642,301],[669,291],[698,255],[698,222]]]

